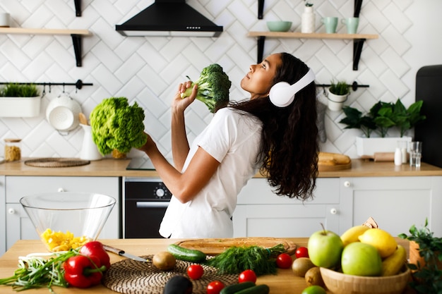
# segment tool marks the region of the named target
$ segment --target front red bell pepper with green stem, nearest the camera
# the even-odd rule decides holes
[[[76,255],[69,257],[63,264],[64,279],[77,288],[88,288],[101,282],[106,266],[95,256]]]

